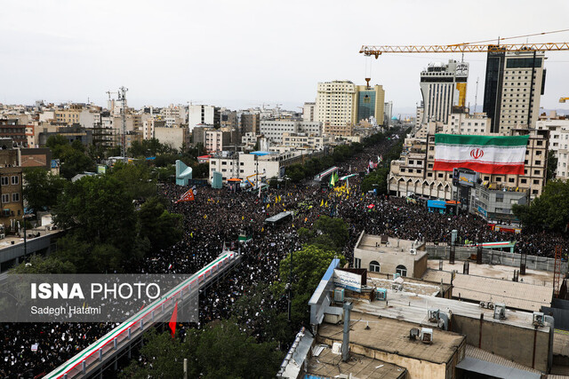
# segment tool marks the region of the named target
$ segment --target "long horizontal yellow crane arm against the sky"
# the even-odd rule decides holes
[[[384,52],[487,52],[487,51],[566,51],[569,43],[506,43],[495,44],[431,44],[431,45],[363,45],[360,53],[379,58]]]

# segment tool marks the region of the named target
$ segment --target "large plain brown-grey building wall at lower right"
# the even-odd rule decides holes
[[[466,336],[466,342],[473,346],[543,372],[548,370],[549,333],[488,320],[481,325],[480,320],[456,314],[450,325],[453,332]]]

